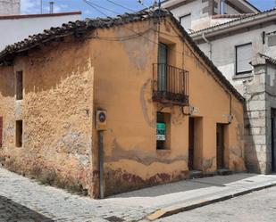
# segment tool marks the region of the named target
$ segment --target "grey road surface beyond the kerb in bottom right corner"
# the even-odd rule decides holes
[[[158,222],[276,221],[276,186],[190,210]]]

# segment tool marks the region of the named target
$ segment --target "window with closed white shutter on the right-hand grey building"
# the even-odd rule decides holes
[[[249,62],[252,61],[253,49],[252,44],[236,46],[236,74],[245,74],[252,71]]]

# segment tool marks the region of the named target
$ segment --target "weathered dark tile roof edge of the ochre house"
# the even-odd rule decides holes
[[[222,72],[214,66],[213,62],[209,60],[209,58],[203,53],[196,43],[189,37],[188,33],[183,29],[180,22],[177,21],[171,12],[167,10],[155,10],[155,11],[140,11],[135,13],[125,13],[122,15],[118,15],[115,18],[97,18],[97,19],[87,19],[85,21],[74,21],[63,24],[62,27],[51,28],[44,30],[43,33],[38,35],[29,36],[21,42],[15,43],[13,45],[8,45],[5,49],[0,52],[0,65],[1,63],[8,62],[9,60],[13,60],[13,58],[22,53],[26,52],[29,49],[35,48],[38,45],[44,44],[46,42],[54,41],[54,39],[58,39],[60,37],[66,37],[71,35],[81,35],[83,33],[88,32],[93,29],[108,29],[113,26],[121,26],[123,24],[127,24],[135,21],[148,21],[155,18],[165,18],[170,17],[171,21],[173,21],[174,25],[180,30],[183,39],[187,40],[189,45],[191,45],[194,50],[198,53],[198,55],[203,59],[203,61],[213,70],[216,78],[222,82],[222,85],[226,86],[230,92],[235,95],[239,101],[244,102],[244,97],[238,93],[234,86],[230,84],[230,82],[222,75]]]

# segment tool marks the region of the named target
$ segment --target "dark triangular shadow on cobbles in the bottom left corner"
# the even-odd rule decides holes
[[[0,222],[54,222],[50,218],[30,210],[11,199],[0,196]]]

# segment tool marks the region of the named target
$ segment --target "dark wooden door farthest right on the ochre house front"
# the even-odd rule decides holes
[[[217,169],[224,169],[224,125],[216,125],[216,162]]]

